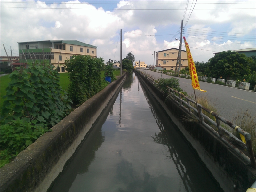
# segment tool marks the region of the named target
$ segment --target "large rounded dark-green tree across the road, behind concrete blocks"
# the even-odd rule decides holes
[[[246,57],[244,54],[239,54],[231,50],[220,52],[209,59],[209,74],[210,77],[223,79],[239,79],[251,72],[250,62],[252,58]]]

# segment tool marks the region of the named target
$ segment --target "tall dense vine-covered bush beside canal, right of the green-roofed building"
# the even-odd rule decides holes
[[[89,55],[76,55],[65,61],[70,80],[68,97],[75,106],[101,90],[100,71],[103,67],[102,58],[91,58]]]

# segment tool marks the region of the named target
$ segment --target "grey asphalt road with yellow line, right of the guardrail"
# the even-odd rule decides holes
[[[173,76],[165,75],[153,71],[140,69],[146,74],[150,74],[155,79],[158,78],[172,78]],[[161,77],[162,76],[162,77]],[[179,79],[180,88],[188,93],[188,95],[194,95],[193,88],[191,86],[190,79]],[[196,96],[206,95],[212,103],[216,106],[218,114],[224,118],[231,120],[237,113],[249,110],[252,118],[256,118],[256,92],[245,91],[238,88],[217,85],[200,81],[200,88],[207,92],[200,92],[196,90]]]

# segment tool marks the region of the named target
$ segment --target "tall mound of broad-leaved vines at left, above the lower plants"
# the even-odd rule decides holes
[[[2,124],[19,118],[46,127],[60,122],[71,108],[71,100],[62,95],[57,70],[46,62],[16,69],[9,75],[11,81],[4,96]]]

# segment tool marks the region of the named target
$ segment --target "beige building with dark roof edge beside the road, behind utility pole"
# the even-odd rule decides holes
[[[172,48],[156,52],[156,66],[164,67],[163,70],[175,71],[179,49]],[[178,64],[179,67],[179,64]],[[177,70],[178,70],[177,67]],[[180,69],[188,67],[187,53],[181,50],[181,65]]]

